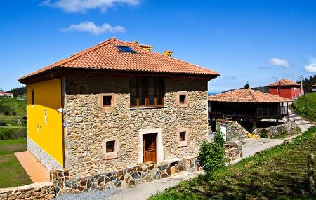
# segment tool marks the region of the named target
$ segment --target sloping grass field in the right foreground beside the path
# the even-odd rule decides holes
[[[316,128],[287,145],[199,175],[150,197],[161,199],[314,199],[308,194],[307,155],[316,154]]]

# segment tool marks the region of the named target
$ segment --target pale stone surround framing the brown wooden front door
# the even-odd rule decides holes
[[[156,161],[157,164],[164,160],[164,145],[162,144],[162,128],[140,129],[138,133],[138,163],[143,163],[143,135],[157,133],[156,138]]]

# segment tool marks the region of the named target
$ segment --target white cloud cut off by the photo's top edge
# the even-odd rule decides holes
[[[136,6],[140,0],[45,0],[41,6],[51,6],[54,8],[62,8],[62,10],[70,13],[85,12],[89,9],[100,8],[106,11],[107,8],[116,6]]]

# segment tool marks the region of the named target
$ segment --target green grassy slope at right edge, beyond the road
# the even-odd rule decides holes
[[[307,119],[316,121],[316,93],[303,95],[292,104],[292,109],[297,114]]]

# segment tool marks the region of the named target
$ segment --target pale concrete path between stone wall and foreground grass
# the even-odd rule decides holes
[[[145,182],[143,184],[136,185],[136,187],[133,188],[123,188],[108,198],[108,200],[145,200],[153,194],[157,194],[157,192],[164,192],[164,189],[172,187],[173,185],[177,185],[182,180],[189,180],[194,178],[197,174],[202,173],[204,173],[204,171],[199,171],[196,173],[179,173],[178,175],[172,176],[170,178]]]

